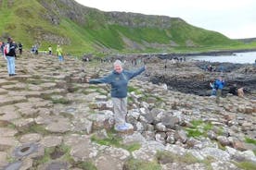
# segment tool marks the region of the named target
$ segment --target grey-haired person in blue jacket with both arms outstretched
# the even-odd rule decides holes
[[[111,98],[114,106],[115,130],[125,131],[133,128],[131,124],[126,123],[127,114],[127,90],[128,81],[146,70],[141,67],[135,71],[123,70],[122,62],[114,62],[114,70],[106,77],[101,79],[87,79],[91,84],[108,83],[111,85]]]

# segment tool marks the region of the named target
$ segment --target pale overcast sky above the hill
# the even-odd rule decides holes
[[[124,11],[183,18],[225,36],[256,37],[256,0],[76,0],[102,11]]]

